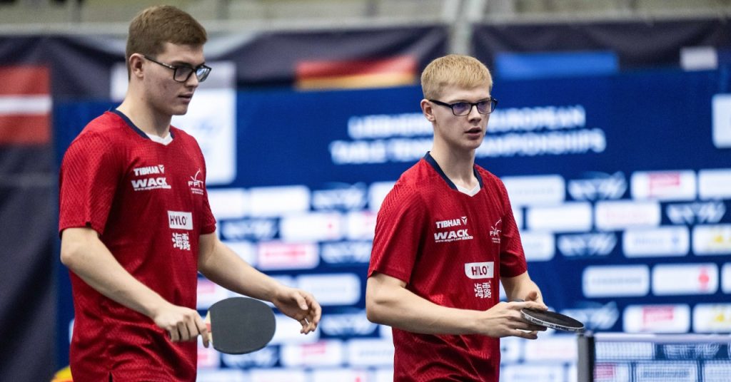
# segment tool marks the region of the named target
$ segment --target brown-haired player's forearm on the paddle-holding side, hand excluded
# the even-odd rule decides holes
[[[61,262],[89,286],[145,316],[153,317],[168,304],[159,294],[132,277],[114,258],[96,232],[67,229],[61,240]]]

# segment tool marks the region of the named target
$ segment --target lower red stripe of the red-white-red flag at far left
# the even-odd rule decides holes
[[[45,145],[50,142],[50,115],[0,115],[0,145]]]

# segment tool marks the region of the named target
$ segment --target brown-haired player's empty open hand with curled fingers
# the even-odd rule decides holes
[[[281,286],[272,299],[272,303],[281,313],[294,318],[302,325],[300,333],[306,335],[317,329],[322,308],[312,294],[301,289]]]

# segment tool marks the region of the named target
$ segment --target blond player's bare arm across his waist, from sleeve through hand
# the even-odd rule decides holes
[[[366,314],[370,321],[423,334],[535,339],[535,331],[545,328],[523,321],[520,317],[523,307],[539,307],[539,304],[501,302],[485,311],[443,307],[412,293],[403,281],[382,273],[368,278],[366,286]]]

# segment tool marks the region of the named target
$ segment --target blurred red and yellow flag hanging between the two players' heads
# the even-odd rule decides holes
[[[417,61],[412,56],[350,61],[300,61],[299,89],[387,88],[413,85]]]

